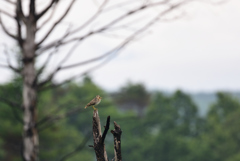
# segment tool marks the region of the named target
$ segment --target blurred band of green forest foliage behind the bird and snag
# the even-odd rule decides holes
[[[21,80],[0,85],[0,160],[21,159]],[[102,126],[108,115],[122,128],[123,160],[138,161],[239,161],[240,103],[227,93],[217,93],[217,101],[205,117],[182,91],[166,95],[149,92],[143,84],[128,83],[115,93],[107,93],[91,78],[42,91],[38,100],[40,160],[68,161],[95,159],[92,148],[92,108],[84,106],[97,94],[96,106]],[[131,107],[134,106],[134,107]],[[140,111],[140,114],[139,114]],[[83,142],[89,139],[86,144]],[[113,158],[113,137],[105,140]]]

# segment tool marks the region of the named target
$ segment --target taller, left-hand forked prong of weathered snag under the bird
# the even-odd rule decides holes
[[[110,116],[107,118],[105,130],[101,132],[101,123],[98,115],[98,110],[93,111],[93,148],[95,150],[97,161],[108,161],[107,152],[105,149],[104,140],[110,125]]]

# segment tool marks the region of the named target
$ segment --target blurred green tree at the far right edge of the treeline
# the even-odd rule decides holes
[[[204,144],[211,151],[212,161],[237,161],[240,159],[240,102],[227,93],[217,93],[217,101],[207,116]]]

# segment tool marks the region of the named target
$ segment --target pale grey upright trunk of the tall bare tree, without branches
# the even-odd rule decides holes
[[[34,5],[34,4],[33,4]],[[25,161],[38,160],[37,91],[35,69],[36,22],[34,11],[26,22],[26,39],[22,44],[23,52],[23,157]]]

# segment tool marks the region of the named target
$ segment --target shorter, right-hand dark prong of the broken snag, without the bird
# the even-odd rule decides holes
[[[114,138],[114,154],[115,154],[115,161],[122,161],[122,154],[121,154],[121,135],[122,130],[120,126],[114,121],[114,130],[111,130]]]

